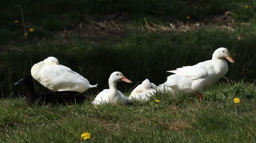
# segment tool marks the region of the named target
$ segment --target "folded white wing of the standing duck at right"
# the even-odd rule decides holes
[[[167,72],[172,72],[178,75],[185,76],[189,79],[195,80],[195,79],[200,79],[207,76],[208,72],[205,68],[207,64],[209,64],[209,61],[201,62],[194,66],[185,66],[183,68],[178,68],[176,70],[167,71]]]

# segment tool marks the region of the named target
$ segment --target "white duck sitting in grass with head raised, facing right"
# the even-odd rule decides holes
[[[125,105],[127,103],[127,97],[116,89],[117,82],[121,80],[124,82],[132,83],[132,81],[126,78],[121,72],[113,72],[109,78],[110,89],[100,92],[92,103],[94,105],[105,103]]]

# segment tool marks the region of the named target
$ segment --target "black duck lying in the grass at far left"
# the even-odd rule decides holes
[[[15,82],[15,87],[17,85],[23,84],[28,89],[28,93],[26,94],[26,102],[27,103],[36,103],[39,105],[45,104],[80,104],[84,100],[89,99],[89,97],[74,91],[62,91],[62,92],[45,92],[37,94],[34,87],[34,81],[32,76],[26,76],[25,78],[20,79]]]

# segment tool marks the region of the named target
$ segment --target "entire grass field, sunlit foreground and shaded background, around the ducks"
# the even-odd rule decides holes
[[[91,133],[85,142],[256,141],[254,1],[26,0],[1,1],[0,9],[0,142],[80,142],[83,132]],[[17,93],[24,89],[13,85],[55,56],[98,83],[85,93],[91,100],[114,71],[134,82],[118,83],[129,95],[145,78],[163,83],[166,71],[209,60],[219,47],[236,63],[204,101],[163,93],[127,106],[39,106],[26,104]]]

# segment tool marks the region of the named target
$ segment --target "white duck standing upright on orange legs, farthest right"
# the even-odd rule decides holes
[[[198,94],[200,100],[203,100],[203,90],[214,84],[227,73],[228,65],[224,59],[234,63],[226,48],[218,48],[212,54],[211,60],[198,63],[194,66],[185,66],[173,71],[167,71],[175,74],[168,76],[167,81],[160,86],[171,88],[174,94],[179,92],[183,92],[184,94]],[[171,87],[170,85],[174,86]]]

